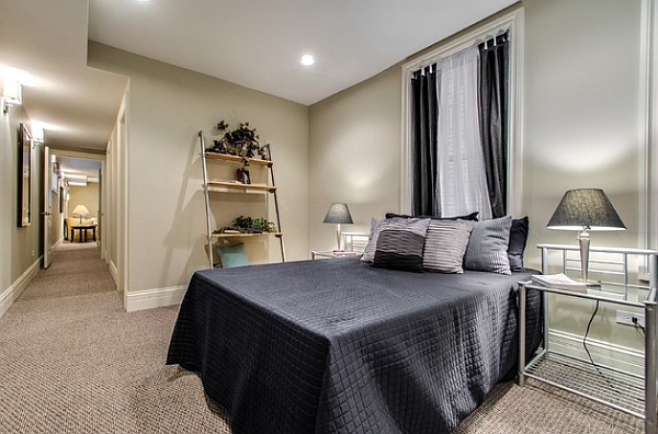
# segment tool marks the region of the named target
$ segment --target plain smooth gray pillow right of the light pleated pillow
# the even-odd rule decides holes
[[[470,232],[464,269],[512,274],[507,255],[512,216],[477,221]]]

